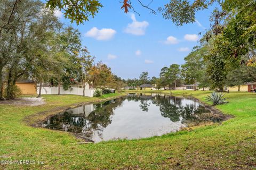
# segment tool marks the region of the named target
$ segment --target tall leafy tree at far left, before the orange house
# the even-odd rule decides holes
[[[0,23],[3,23],[5,22],[4,16],[8,15],[6,10],[10,1],[5,0],[1,3],[0,6],[3,7],[1,16],[3,17],[1,17]],[[35,49],[42,45],[46,32],[53,30],[59,24],[58,18],[53,15],[53,12],[44,11],[44,5],[41,1],[20,3],[15,8],[10,22],[1,31],[0,39],[0,44],[3,44],[1,46],[0,65],[5,64],[5,60],[8,61],[8,64],[4,65],[5,79],[7,79],[5,90],[7,99],[12,98],[17,79],[28,74],[31,63],[37,57],[34,55]],[[2,74],[3,70],[0,72]],[[0,82],[0,84],[2,83]]]

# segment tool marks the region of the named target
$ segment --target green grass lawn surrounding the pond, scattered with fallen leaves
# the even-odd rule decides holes
[[[171,92],[186,92],[202,101],[210,93]],[[66,132],[32,128],[24,118],[99,98],[45,95],[43,106],[0,105],[0,160],[45,162],[0,165],[0,169],[256,169],[256,94],[231,92],[226,96],[229,103],[216,107],[235,117],[221,124],[162,137],[87,145],[75,145],[78,139]]]

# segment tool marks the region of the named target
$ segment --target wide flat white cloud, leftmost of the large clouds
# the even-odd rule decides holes
[[[102,28],[99,30],[97,27],[93,27],[85,33],[86,37],[92,37],[97,40],[109,40],[114,37],[116,30],[111,28]]]

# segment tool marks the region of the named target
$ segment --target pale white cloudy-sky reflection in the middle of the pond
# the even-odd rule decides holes
[[[123,107],[116,109],[112,123],[103,130],[102,135],[104,140],[116,137],[138,139],[174,132],[181,126],[180,121],[171,122],[169,118],[159,114],[159,108],[155,105],[148,108],[145,116],[141,113],[138,102],[124,101]],[[97,141],[97,137],[94,140]]]

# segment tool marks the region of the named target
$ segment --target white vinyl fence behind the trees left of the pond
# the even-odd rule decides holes
[[[42,95],[58,95],[58,87],[42,87],[41,94]],[[39,87],[36,90],[37,94],[39,94]],[[94,90],[92,89],[85,89],[85,96],[93,97]],[[64,90],[60,87],[60,94],[61,95],[79,95],[83,96],[83,88],[73,87],[68,90]]]

